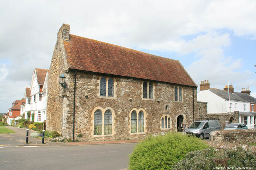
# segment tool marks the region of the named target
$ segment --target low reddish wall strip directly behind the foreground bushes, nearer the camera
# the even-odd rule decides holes
[[[254,145],[244,145],[239,143],[230,143],[230,142],[219,142],[219,141],[205,141],[209,146],[215,147],[217,149],[237,149],[242,147],[246,151],[252,151],[256,153],[256,146]]]

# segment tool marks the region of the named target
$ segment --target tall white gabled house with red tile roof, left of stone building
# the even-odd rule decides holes
[[[44,122],[46,120],[46,105],[47,105],[47,79],[48,71],[45,69],[35,68],[33,71],[30,87],[26,88],[24,99],[25,105],[22,105],[20,114],[25,114],[30,111],[30,121],[34,114],[34,122]]]

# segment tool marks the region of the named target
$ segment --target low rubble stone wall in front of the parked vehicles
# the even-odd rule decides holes
[[[256,129],[212,131],[210,141],[231,143],[256,143]]]

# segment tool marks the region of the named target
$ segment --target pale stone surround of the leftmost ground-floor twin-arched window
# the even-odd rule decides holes
[[[93,133],[93,130],[94,130],[94,112],[96,110],[101,110],[102,112],[102,135],[94,135]],[[104,114],[105,114],[105,111],[107,110],[110,110],[112,112],[112,134],[109,134],[109,135],[104,135]],[[91,130],[91,137],[95,138],[95,137],[110,137],[110,136],[114,136],[114,134],[116,134],[116,131],[114,131],[114,129],[116,129],[116,114],[113,110],[113,108],[111,107],[106,107],[106,108],[102,108],[102,107],[95,107],[93,109],[93,112],[91,112],[91,125],[90,126],[90,130]]]

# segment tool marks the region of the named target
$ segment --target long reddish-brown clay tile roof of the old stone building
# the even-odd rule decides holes
[[[64,47],[69,69],[197,87],[178,60],[75,35]]]

